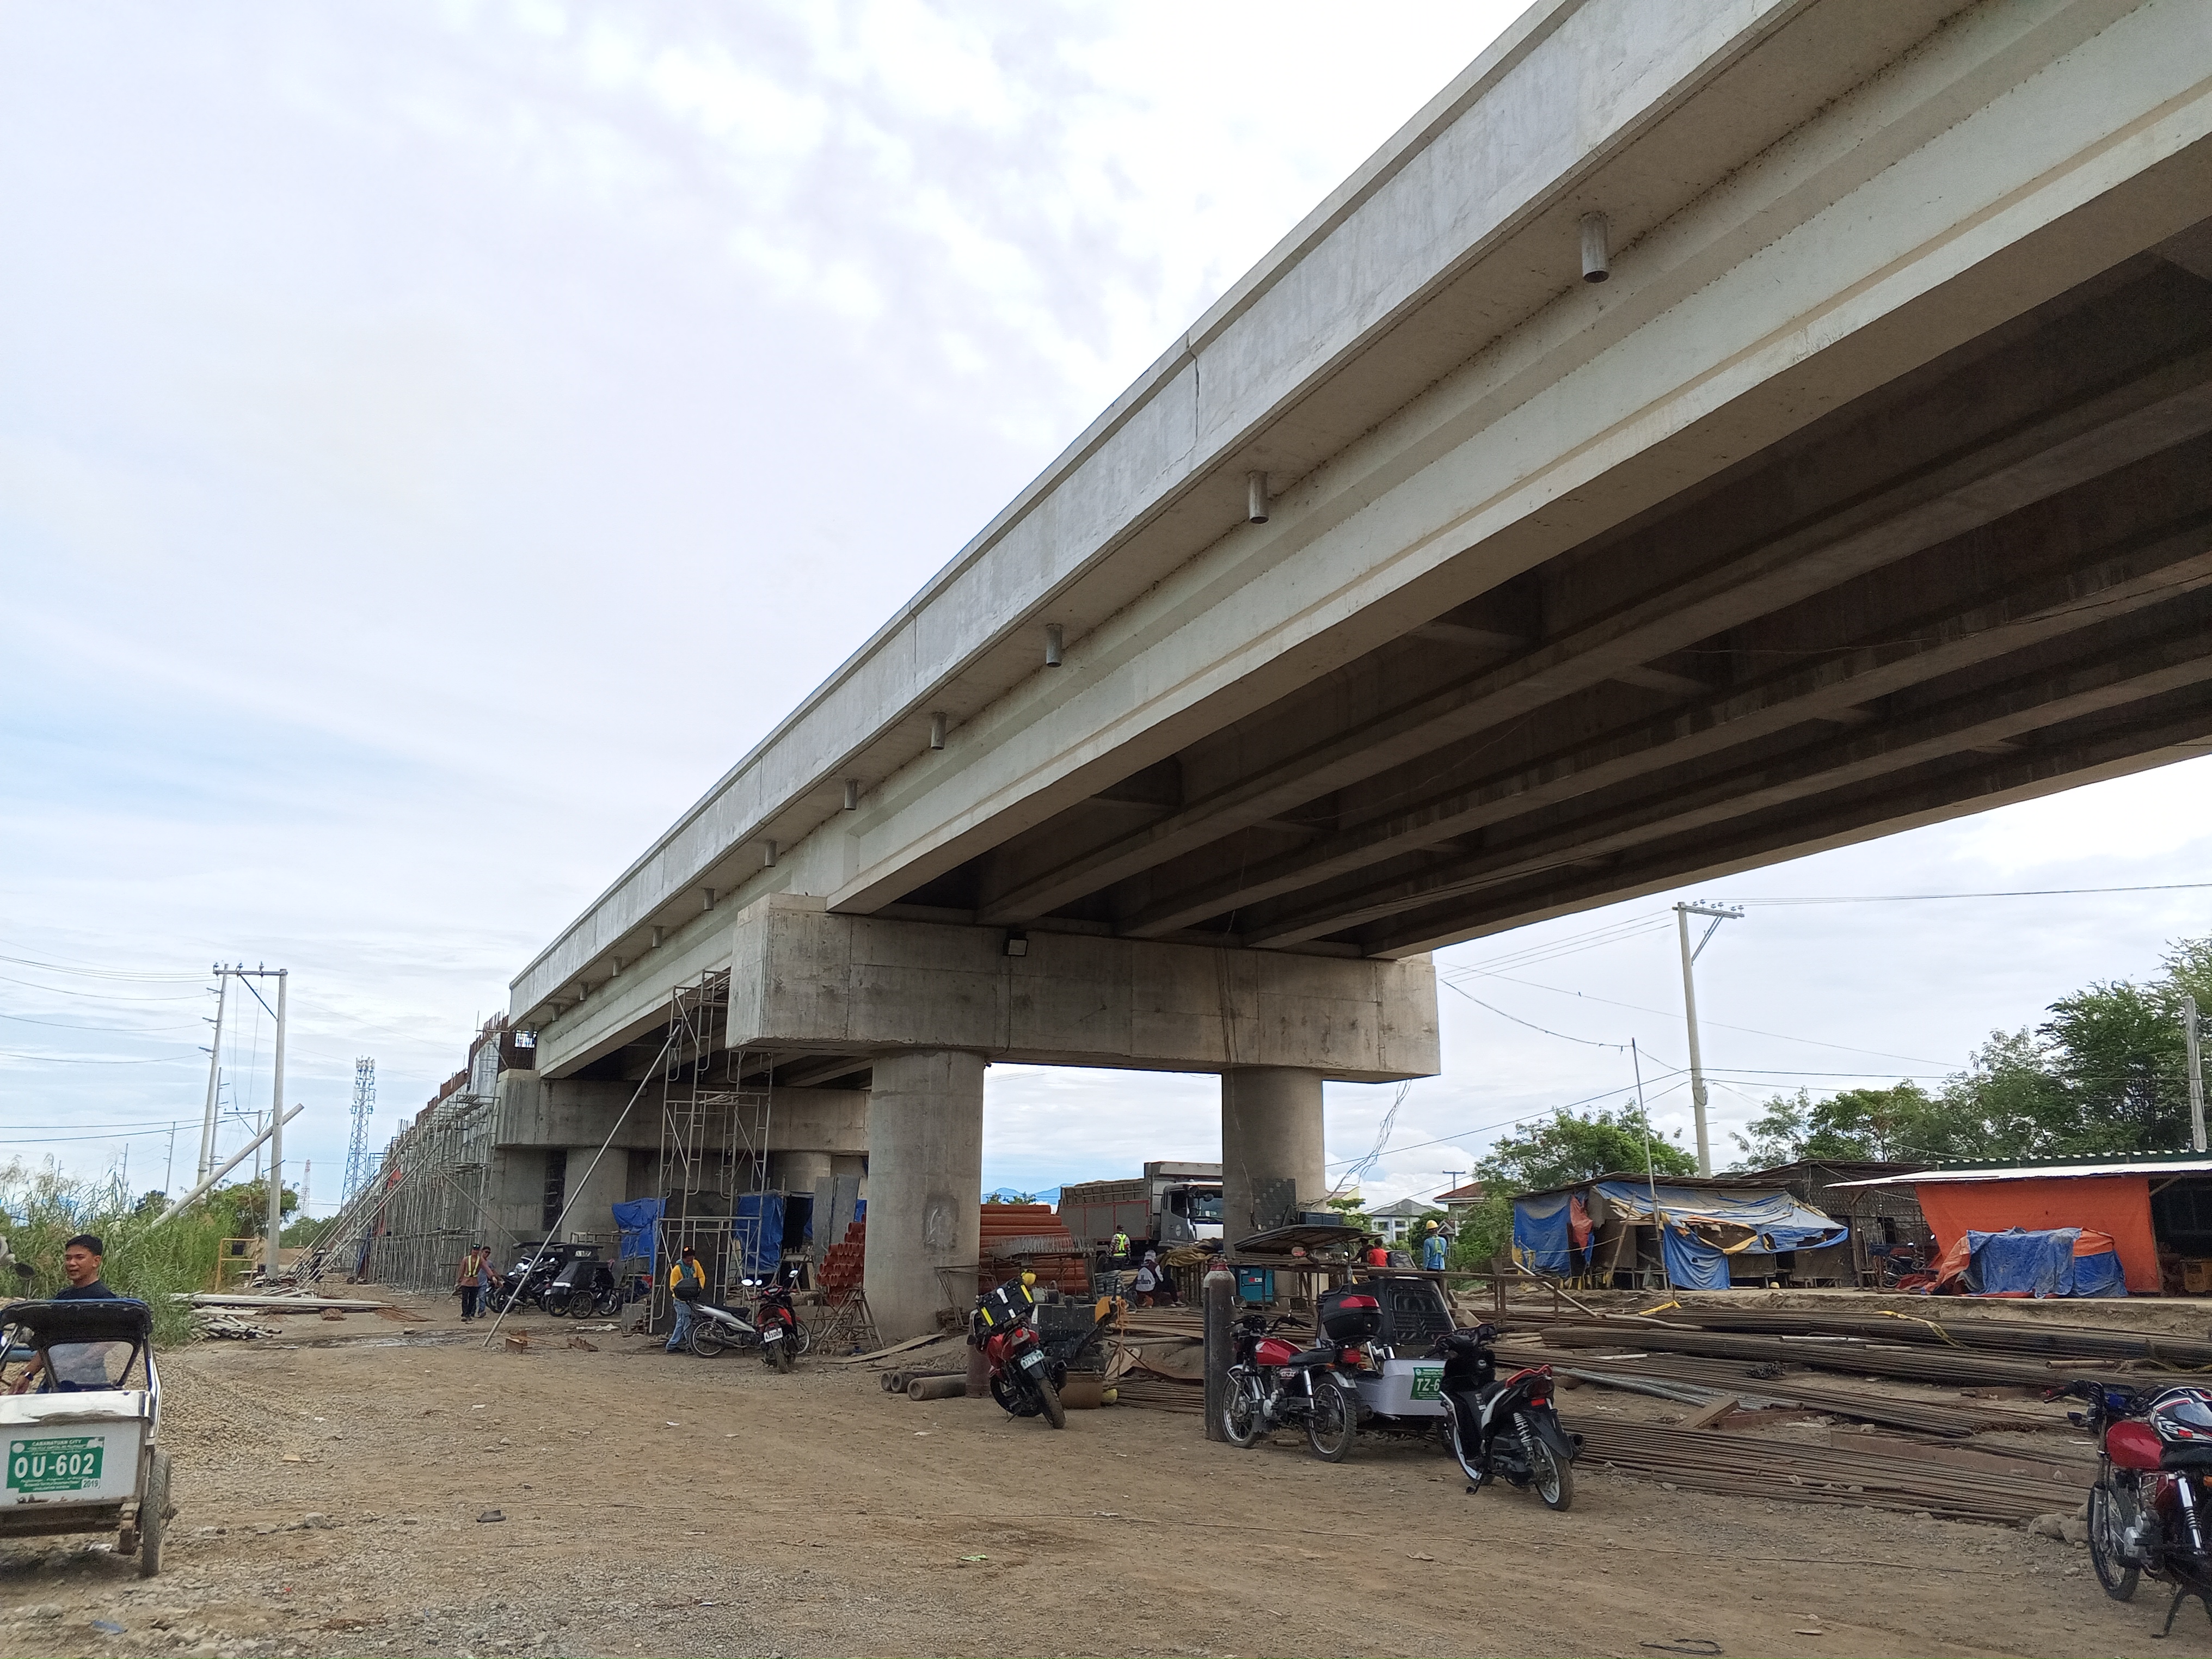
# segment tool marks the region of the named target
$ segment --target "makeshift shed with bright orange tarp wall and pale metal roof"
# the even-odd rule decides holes
[[[1911,1186],[1944,1252],[1969,1230],[2084,1228],[2112,1239],[2132,1294],[2212,1292],[2212,1157],[2203,1152],[1942,1164],[1851,1186]]]

